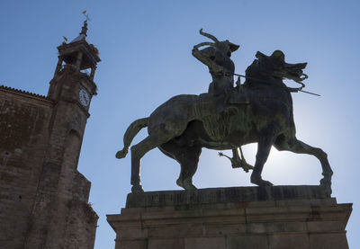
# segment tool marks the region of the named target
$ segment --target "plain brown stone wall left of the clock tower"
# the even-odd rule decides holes
[[[52,102],[0,89],[0,248],[23,248],[49,139]]]

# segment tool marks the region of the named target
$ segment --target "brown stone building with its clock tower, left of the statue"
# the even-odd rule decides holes
[[[86,31],[58,47],[47,96],[0,86],[0,248],[94,248],[91,182],[77,171],[100,61]]]

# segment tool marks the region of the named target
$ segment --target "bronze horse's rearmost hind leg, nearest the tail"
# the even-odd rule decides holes
[[[145,138],[139,144],[131,147],[131,191],[143,191],[140,184],[140,159],[144,156],[149,150],[160,146],[163,143],[166,143],[168,140],[173,138],[173,135],[166,130],[158,130],[157,132],[151,133],[148,135],[148,138]]]

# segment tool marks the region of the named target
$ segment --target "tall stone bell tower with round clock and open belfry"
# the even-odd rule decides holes
[[[88,204],[91,182],[77,171],[100,61],[98,49],[86,40],[87,20],[74,40],[64,37],[58,46],[47,96],[52,104],[47,150],[24,248],[94,247],[98,217]]]

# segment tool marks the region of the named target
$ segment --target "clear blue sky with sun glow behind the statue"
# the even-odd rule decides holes
[[[91,19],[87,40],[102,59],[78,165],[92,182],[89,201],[99,216],[96,249],[114,247],[106,214],[119,214],[130,192],[130,156],[114,156],[125,130],[172,96],[207,92],[208,69],[191,54],[193,45],[208,41],[201,28],[240,45],[231,58],[241,75],[257,50],[270,55],[281,49],[289,63],[308,62],[304,90],[321,97],[293,93],[297,138],[328,153],[332,196],[338,203],[354,203],[347,239],[350,248],[360,248],[359,1],[2,0],[0,84],[46,95],[58,61],[56,48],[62,36],[78,35],[84,10]],[[143,129],[133,144],[146,135]],[[243,150],[254,164],[257,145]],[[179,171],[175,160],[153,149],[142,159],[144,190],[180,190],[175,184]],[[263,178],[275,185],[319,184],[320,173],[315,157],[273,147]],[[217,151],[203,149],[193,183],[198,188],[252,186],[249,178]]]

